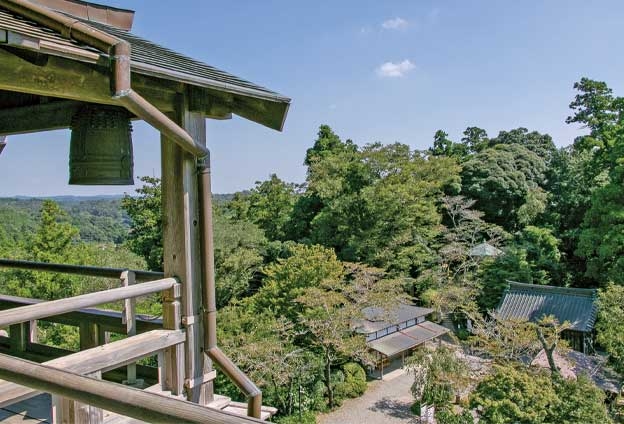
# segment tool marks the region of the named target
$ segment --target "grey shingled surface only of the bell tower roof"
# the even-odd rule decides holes
[[[131,60],[133,72],[156,75],[164,79],[181,81],[201,87],[213,88],[265,100],[284,103],[290,102],[288,97],[162,47],[129,31],[98,22],[85,22],[93,28],[109,33],[130,43],[132,47]],[[27,19],[18,17],[2,8],[0,8],[0,28],[17,31],[21,34],[55,44],[72,46],[79,50],[94,51],[94,49],[88,46],[67,40],[54,31]]]

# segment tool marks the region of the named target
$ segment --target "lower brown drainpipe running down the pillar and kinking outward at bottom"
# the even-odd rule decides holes
[[[212,190],[210,182],[210,155],[199,161],[201,192],[204,352],[216,362],[223,373],[247,396],[247,415],[261,418],[262,392],[217,346],[217,301],[215,292],[214,240],[212,233]]]

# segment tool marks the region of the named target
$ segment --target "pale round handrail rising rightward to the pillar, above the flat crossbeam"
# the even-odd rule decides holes
[[[82,308],[102,305],[104,303],[117,302],[128,298],[158,293],[169,290],[176,284],[178,284],[178,280],[175,278],[164,278],[162,280],[149,281],[128,287],[119,287],[116,289],[12,308],[0,312],[0,327],[60,315]]]

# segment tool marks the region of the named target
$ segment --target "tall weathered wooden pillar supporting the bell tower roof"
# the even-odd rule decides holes
[[[186,96],[180,96],[172,118],[200,144],[206,143],[206,120],[190,112]],[[187,399],[205,403],[212,399],[212,383],[194,384],[211,370],[202,352],[201,319],[201,248],[199,234],[199,192],[197,159],[184,152],[164,136],[162,152],[163,246],[164,271],[181,283],[181,319],[186,328],[184,344],[184,376]],[[166,324],[166,323],[165,323]],[[165,373],[172,372],[165,355]],[[179,361],[179,358],[177,359]]]

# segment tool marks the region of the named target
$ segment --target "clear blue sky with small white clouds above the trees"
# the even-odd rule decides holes
[[[437,129],[524,126],[559,146],[582,76],[624,95],[624,2],[408,0],[105,0],[136,10],[133,32],[293,99],[284,132],[209,121],[213,189],[270,173],[302,182],[305,150],[329,124],[358,144],[428,147]],[[172,5],[178,7],[173,8]],[[135,175],[159,175],[159,136],[135,124]],[[67,185],[69,132],[9,138],[0,196],[112,194]]]

